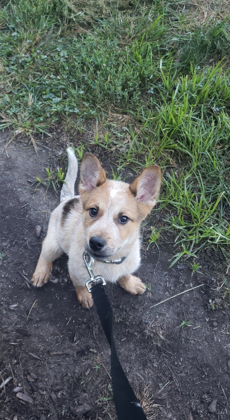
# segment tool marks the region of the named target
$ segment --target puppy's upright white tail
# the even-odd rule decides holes
[[[71,147],[67,148],[68,169],[62,185],[60,202],[75,195],[74,185],[78,175],[78,160]]]

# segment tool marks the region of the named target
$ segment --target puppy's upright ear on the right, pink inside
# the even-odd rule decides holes
[[[129,189],[140,203],[141,215],[147,216],[155,206],[160,190],[161,173],[160,167],[150,166],[129,185]]]

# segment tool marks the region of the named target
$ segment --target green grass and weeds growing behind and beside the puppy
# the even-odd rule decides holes
[[[171,232],[171,266],[212,248],[230,261],[230,21],[176,0],[18,0],[0,10],[0,128],[83,133],[114,179],[160,163],[147,242]],[[221,7],[221,2],[220,2]],[[75,142],[81,159],[87,141]],[[47,172],[49,186],[59,175]],[[39,181],[39,182],[40,182]],[[172,239],[173,238],[173,239]],[[192,266],[194,268],[194,266]],[[196,268],[194,268],[194,271]]]

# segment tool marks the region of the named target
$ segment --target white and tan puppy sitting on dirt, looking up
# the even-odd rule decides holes
[[[155,206],[160,189],[159,166],[150,166],[132,182],[106,179],[96,156],[85,154],[80,165],[79,195],[74,193],[78,161],[68,147],[68,170],[60,204],[49,220],[47,236],[32,276],[35,287],[47,283],[52,262],[65,252],[78,301],[93,306],[85,287],[89,276],[83,252],[94,258],[93,273],[105,281],[119,282],[131,294],[142,294],[145,284],[132,275],[140,265],[140,224]],[[119,262],[115,264],[114,262]],[[110,260],[111,263],[104,263]]]

